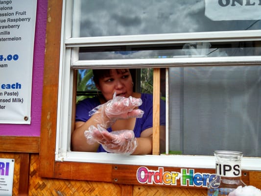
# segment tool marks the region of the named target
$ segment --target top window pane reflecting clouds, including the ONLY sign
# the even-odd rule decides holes
[[[210,1],[208,4],[205,1],[207,2],[207,0],[77,0],[74,3],[80,5],[75,6],[76,17],[73,22],[75,28],[80,26],[80,32],[74,36],[261,29],[260,14],[257,13],[260,13],[261,7],[259,0],[251,2],[208,0]],[[74,30],[72,32],[78,32],[78,29]]]

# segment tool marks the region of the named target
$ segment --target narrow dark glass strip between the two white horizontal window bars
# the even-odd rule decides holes
[[[261,42],[186,43],[168,45],[81,47],[79,60],[216,56],[258,56]]]

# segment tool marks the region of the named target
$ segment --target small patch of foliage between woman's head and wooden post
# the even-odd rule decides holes
[[[153,68],[141,69],[141,91],[153,94]]]

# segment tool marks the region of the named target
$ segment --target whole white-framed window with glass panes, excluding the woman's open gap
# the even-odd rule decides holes
[[[157,2],[157,12],[151,1],[120,2],[64,2],[56,160],[214,168],[206,155],[225,148],[256,157],[245,169],[261,170],[261,22],[212,21],[203,0]],[[166,68],[166,154],[179,160],[71,151],[77,71],[130,67]]]

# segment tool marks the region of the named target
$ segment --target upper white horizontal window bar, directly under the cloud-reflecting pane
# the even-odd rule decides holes
[[[261,30],[217,32],[167,33],[146,35],[121,35],[103,37],[78,37],[65,40],[66,47],[98,47],[117,45],[179,44],[193,42],[244,42],[259,41]]]

